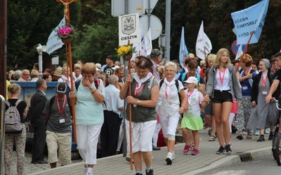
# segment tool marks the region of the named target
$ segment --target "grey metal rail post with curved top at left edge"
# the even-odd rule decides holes
[[[0,174],[5,174],[4,169],[4,143],[5,143],[5,127],[4,127],[4,113],[6,111],[5,99],[0,95]]]

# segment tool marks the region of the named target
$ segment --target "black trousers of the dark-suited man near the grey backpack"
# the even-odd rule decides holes
[[[32,144],[32,160],[44,161],[44,148],[46,146],[46,129],[34,127],[34,137]]]

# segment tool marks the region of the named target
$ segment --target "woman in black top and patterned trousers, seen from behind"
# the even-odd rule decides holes
[[[5,157],[5,174],[23,174],[23,166],[25,165],[25,140],[26,140],[26,129],[23,124],[23,119],[27,115],[27,104],[25,101],[18,99],[20,95],[20,85],[13,83],[8,86],[9,99],[6,102],[6,110],[11,106],[16,106],[20,114],[20,120],[22,121],[22,131],[18,133],[14,132],[5,132],[5,148],[4,148],[4,157]],[[12,164],[12,153],[13,146],[15,143],[15,150],[17,152],[18,163],[17,169],[18,173],[10,172]]]

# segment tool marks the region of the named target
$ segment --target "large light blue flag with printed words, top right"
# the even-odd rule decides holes
[[[263,0],[254,6],[231,13],[236,31],[237,44],[247,44],[253,31],[254,35],[249,44],[259,41],[264,22],[266,21],[268,3],[269,0]]]

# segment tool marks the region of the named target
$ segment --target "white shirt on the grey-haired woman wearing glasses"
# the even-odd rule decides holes
[[[180,109],[180,101],[178,99],[178,92],[181,92],[183,89],[183,83],[178,80],[178,90],[176,84],[170,87],[171,92],[169,96],[166,95],[166,83],[162,84],[159,90],[159,100],[161,100],[161,105],[158,106],[157,113],[162,116],[174,116],[175,113],[178,113]]]

